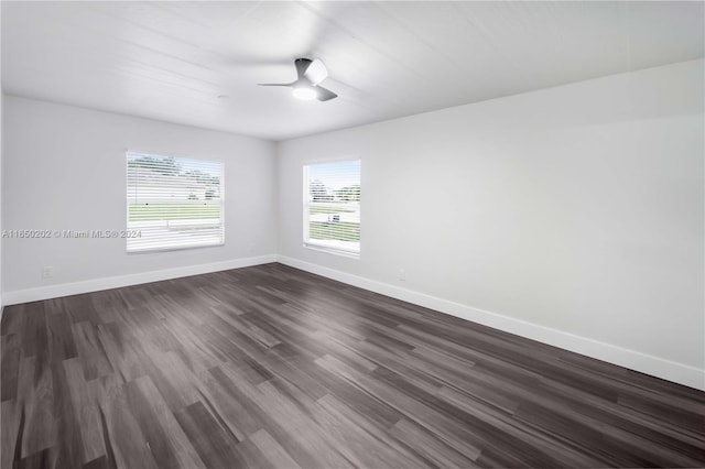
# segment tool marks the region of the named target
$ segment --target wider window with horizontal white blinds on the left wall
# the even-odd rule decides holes
[[[217,246],[223,164],[128,153],[128,252]]]

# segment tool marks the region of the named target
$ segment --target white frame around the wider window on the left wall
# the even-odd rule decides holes
[[[139,231],[139,227],[134,228],[134,227],[130,227],[130,198],[128,195],[128,188],[129,188],[129,157],[130,155],[140,155],[140,156],[151,156],[151,157],[158,157],[158,159],[174,159],[176,161],[178,160],[191,160],[191,161],[203,161],[205,163],[209,163],[209,164],[218,164],[220,167],[220,197],[219,197],[219,212],[218,212],[218,219],[220,220],[220,230],[221,230],[221,237],[220,237],[220,241],[216,242],[216,243],[212,243],[212,244],[195,244],[195,246],[166,246],[166,247],[158,247],[158,248],[149,248],[149,249],[139,249],[139,250],[130,250],[129,249],[129,242],[130,242],[130,238],[126,237],[126,253],[128,255],[133,255],[133,254],[150,254],[150,253],[158,253],[158,252],[169,252],[169,251],[184,251],[184,250],[191,250],[191,249],[207,249],[207,248],[218,248],[218,247],[223,247],[225,246],[225,239],[226,239],[226,230],[225,230],[225,162],[223,162],[221,160],[217,160],[217,159],[204,159],[204,157],[193,157],[193,156],[174,156],[172,154],[160,154],[160,153],[151,153],[151,152],[142,152],[142,151],[134,151],[134,150],[126,150],[124,151],[124,182],[126,182],[126,190],[124,190],[124,195],[126,195],[126,208],[124,208],[124,218],[126,218],[126,231],[130,232],[130,231]],[[184,204],[189,204],[188,200],[183,201]],[[193,201],[193,204],[198,204],[202,201]]]

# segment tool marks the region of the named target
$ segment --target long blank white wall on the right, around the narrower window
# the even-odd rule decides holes
[[[705,389],[703,129],[695,61],[286,141],[279,253]],[[302,165],[346,155],[359,260],[302,243]]]

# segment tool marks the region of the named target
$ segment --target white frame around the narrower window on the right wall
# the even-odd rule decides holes
[[[335,255],[341,255],[341,257],[346,257],[346,258],[350,258],[350,259],[356,259],[359,260],[360,255],[361,255],[361,251],[362,251],[362,216],[361,216],[361,209],[359,209],[359,216],[360,216],[360,240],[358,240],[358,247],[357,250],[354,249],[345,249],[345,248],[340,248],[340,247],[334,247],[334,246],[329,246],[326,244],[325,241],[318,241],[318,240],[312,240],[310,238],[310,222],[311,222],[311,203],[308,200],[308,195],[310,195],[310,179],[308,179],[308,167],[310,166],[315,166],[315,165],[322,165],[322,164],[332,164],[332,163],[346,163],[346,162],[358,162],[359,163],[359,167],[360,167],[360,173],[359,173],[359,186],[360,186],[360,195],[362,194],[362,159],[360,159],[359,156],[347,156],[347,157],[339,157],[339,159],[327,159],[327,160],[315,160],[315,161],[308,161],[308,162],[304,162],[303,163],[303,177],[302,177],[302,182],[303,182],[303,210],[302,210],[302,225],[303,225],[303,247],[306,249],[311,249],[313,251],[319,251],[319,252],[326,252],[329,254],[335,254]],[[338,208],[339,204],[336,203],[325,203],[325,201],[317,201],[315,203],[316,207],[332,207],[332,208]],[[361,208],[361,198],[360,198],[360,203],[359,206]]]

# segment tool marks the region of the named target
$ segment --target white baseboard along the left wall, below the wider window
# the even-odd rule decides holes
[[[119,288],[121,286],[138,285],[141,283],[159,282],[162,280],[199,275],[204,273],[226,271],[229,269],[267,264],[269,262],[276,262],[276,254],[234,259],[230,261],[212,262],[208,264],[185,265],[174,269],[109,276],[83,282],[61,283],[37,288],[17,290],[13,292],[4,292],[2,299],[4,301],[4,305],[17,305],[19,303],[58,298],[61,296],[77,295],[80,293],[99,292],[101,290]]]

